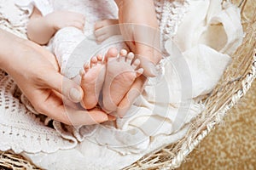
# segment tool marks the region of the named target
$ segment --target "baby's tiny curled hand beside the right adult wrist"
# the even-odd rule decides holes
[[[103,42],[114,35],[120,35],[119,20],[100,20],[95,25],[95,36],[97,42]]]

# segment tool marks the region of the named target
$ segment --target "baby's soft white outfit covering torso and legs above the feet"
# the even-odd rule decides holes
[[[55,35],[49,42],[49,47],[55,54],[65,75],[67,63],[74,49],[87,37],[94,37],[94,25],[98,20],[117,19],[118,8],[113,0],[16,0],[15,3],[32,14],[33,8],[38,8],[43,16],[57,10],[67,10],[83,14],[85,18],[84,32],[74,27],[67,27]],[[86,54],[84,61],[90,59]],[[73,78],[73,77],[72,77]]]

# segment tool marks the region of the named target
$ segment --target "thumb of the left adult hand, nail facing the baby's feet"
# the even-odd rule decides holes
[[[67,97],[71,101],[78,103],[83,98],[82,88],[74,81],[63,77],[59,72],[52,71],[46,77],[49,88]]]

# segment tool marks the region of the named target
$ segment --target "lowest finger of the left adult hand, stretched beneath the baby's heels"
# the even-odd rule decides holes
[[[32,99],[32,105],[36,111],[68,125],[91,125],[113,119],[99,109],[79,111],[63,105],[62,99],[58,98],[53,92],[38,91],[35,96]]]

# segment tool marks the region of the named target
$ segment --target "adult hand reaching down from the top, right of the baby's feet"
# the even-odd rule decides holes
[[[119,103],[118,114],[125,116],[143,92],[147,77],[157,76],[160,62],[160,31],[153,0],[115,0],[119,7],[119,28],[131,51],[141,60],[144,76],[138,77]]]

